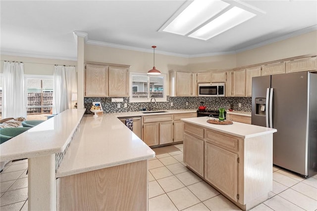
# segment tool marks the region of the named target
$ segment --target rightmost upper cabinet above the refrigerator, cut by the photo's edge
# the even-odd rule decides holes
[[[286,62],[286,73],[310,71],[317,69],[317,57],[294,59]]]

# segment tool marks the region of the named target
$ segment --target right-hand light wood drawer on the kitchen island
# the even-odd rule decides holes
[[[239,139],[231,135],[223,135],[212,130],[206,130],[206,141],[221,148],[238,151]]]

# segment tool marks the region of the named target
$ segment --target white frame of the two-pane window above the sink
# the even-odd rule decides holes
[[[133,87],[133,75],[144,75],[148,77],[148,98],[141,98],[141,99],[135,99],[132,97],[132,87]],[[144,72],[130,72],[130,83],[129,83],[129,102],[131,103],[138,103],[138,102],[150,102],[151,101],[151,97],[150,97],[150,77],[163,77],[163,87],[164,87],[164,91],[163,91],[163,97],[160,98],[155,98],[157,100],[157,102],[167,102],[166,100],[166,93],[167,93],[167,74],[160,74],[160,75],[148,75],[147,73]]]

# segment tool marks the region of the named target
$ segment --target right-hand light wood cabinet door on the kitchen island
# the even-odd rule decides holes
[[[205,179],[234,201],[238,194],[237,159],[237,154],[205,143]]]

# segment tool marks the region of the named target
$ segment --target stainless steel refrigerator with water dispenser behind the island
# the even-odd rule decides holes
[[[252,125],[277,129],[274,165],[303,176],[317,174],[317,74],[254,77]]]

